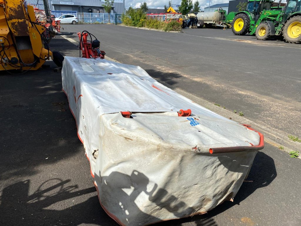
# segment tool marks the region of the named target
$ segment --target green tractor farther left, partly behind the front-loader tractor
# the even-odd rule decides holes
[[[254,27],[263,10],[273,10],[272,0],[248,0],[245,11],[235,13],[232,21],[232,32],[235,35],[245,35]]]

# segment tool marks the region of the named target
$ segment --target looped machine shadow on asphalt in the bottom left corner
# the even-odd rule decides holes
[[[77,186],[70,186],[69,182],[58,178],[47,180],[33,194],[29,192],[30,180],[5,187],[0,204],[1,225],[116,225],[101,209],[97,196],[61,210],[51,209],[54,203],[95,192],[95,187],[76,190]]]

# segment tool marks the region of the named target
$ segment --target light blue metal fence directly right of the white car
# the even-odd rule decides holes
[[[77,13],[79,22],[88,24],[121,24],[121,14],[108,13]]]

